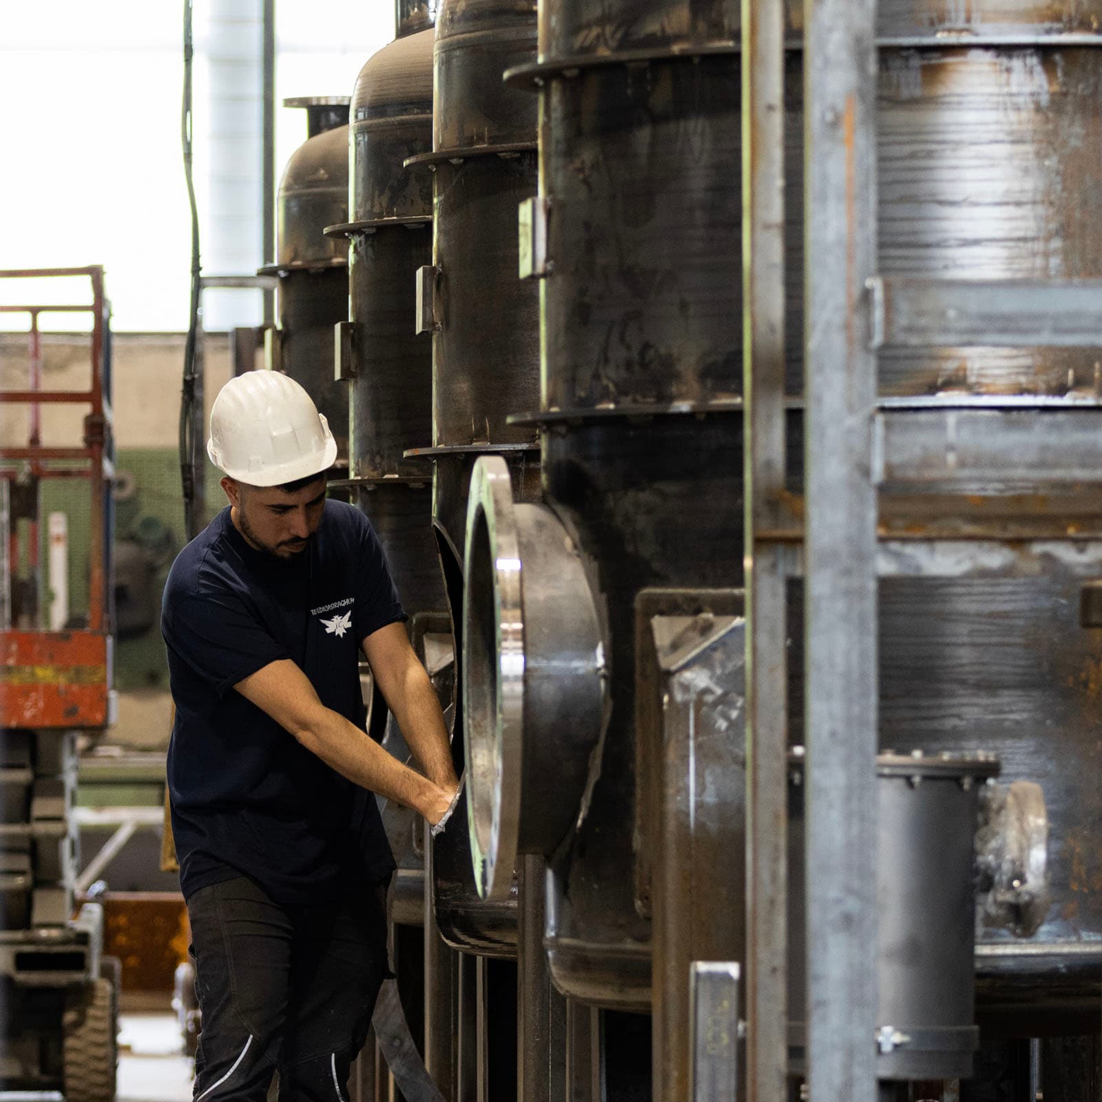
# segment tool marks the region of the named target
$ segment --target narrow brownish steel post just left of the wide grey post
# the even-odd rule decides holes
[[[785,489],[785,4],[743,0],[746,532],[746,1089],[787,1098],[788,709]]]

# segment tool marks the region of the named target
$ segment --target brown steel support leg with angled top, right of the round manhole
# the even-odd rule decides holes
[[[684,615],[693,602],[705,611]],[[645,591],[637,605],[639,627],[649,636],[639,655],[640,757],[651,752],[657,775],[646,822],[655,866],[652,1073],[655,1098],[669,1102],[691,1096],[694,962],[745,953],[741,605],[738,591],[691,590]],[[731,1009],[737,1022],[737,1005]],[[727,1051],[736,1045],[737,1026]]]

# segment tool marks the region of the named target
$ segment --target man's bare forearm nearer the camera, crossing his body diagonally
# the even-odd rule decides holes
[[[454,787],[442,788],[402,765],[366,732],[326,707],[290,659],[269,662],[234,688],[354,784],[413,808],[433,824],[447,811]]]

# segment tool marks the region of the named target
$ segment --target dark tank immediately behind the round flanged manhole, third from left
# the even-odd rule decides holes
[[[432,263],[419,287],[420,324],[432,334],[432,435],[431,446],[410,454],[434,465],[433,526],[457,653],[474,463],[482,454],[505,455],[518,493],[538,489],[536,432],[507,421],[539,389],[538,291],[517,278],[517,206],[537,185],[536,104],[501,83],[506,68],[534,51],[533,0],[444,0],[436,18],[432,151],[410,162],[432,182],[434,212]],[[458,769],[461,715],[456,706]],[[457,818],[463,814],[461,801]],[[499,901],[478,897],[464,832],[445,832],[432,861],[444,939],[482,955],[515,955],[516,892]]]

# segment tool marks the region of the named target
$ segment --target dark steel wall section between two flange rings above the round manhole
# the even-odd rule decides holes
[[[548,87],[544,410],[741,393],[738,97],[731,56]]]

